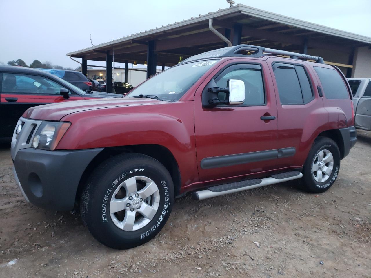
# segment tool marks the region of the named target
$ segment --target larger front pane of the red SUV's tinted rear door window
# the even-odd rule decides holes
[[[298,76],[293,65],[275,64],[274,69],[279,98],[282,104],[303,103]],[[308,79],[307,79],[308,80]]]

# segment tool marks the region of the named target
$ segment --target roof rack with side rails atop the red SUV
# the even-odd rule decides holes
[[[241,54],[245,53],[245,54]],[[205,58],[221,58],[221,57],[262,57],[264,55],[283,55],[289,56],[291,59],[301,59],[301,60],[314,60],[317,63],[324,63],[324,59],[322,57],[311,56],[307,54],[301,54],[296,52],[289,52],[284,50],[272,49],[272,48],[265,48],[262,46],[254,46],[249,44],[239,44],[236,46],[224,47],[215,50],[211,50],[208,52],[204,52],[201,54],[197,54],[195,56],[189,57],[188,59],[183,60],[185,61],[193,61],[193,60],[200,60]]]

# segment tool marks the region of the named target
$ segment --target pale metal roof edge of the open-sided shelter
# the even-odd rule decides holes
[[[306,29],[306,30],[313,31],[313,32],[328,34],[328,35],[332,35],[332,36],[336,36],[336,37],[355,40],[357,42],[371,44],[371,38],[370,37],[366,37],[366,36],[346,32],[346,31],[342,31],[342,30],[322,26],[322,25],[315,24],[315,23],[310,23],[308,21],[303,21],[303,20],[292,18],[292,17],[282,16],[280,14],[271,13],[269,11],[256,9],[256,8],[253,8],[253,7],[245,6],[243,4],[238,4],[236,6],[228,7],[226,9],[219,9],[218,11],[209,12],[209,13],[203,14],[203,15],[200,14],[200,16],[198,16],[198,17],[191,17],[190,19],[187,19],[187,20],[177,21],[175,23],[168,24],[168,25],[165,25],[165,26],[162,26],[162,27],[157,27],[155,29],[145,30],[143,32],[131,34],[129,36],[125,36],[125,37],[122,37],[122,38],[119,38],[119,39],[116,39],[116,40],[101,43],[101,44],[98,44],[96,46],[87,47],[87,48],[80,49],[80,50],[77,50],[77,51],[74,51],[74,52],[69,52],[66,55],[67,56],[73,56],[73,55],[76,55],[76,54],[79,54],[79,53],[87,52],[89,50],[94,50],[94,49],[99,49],[101,47],[109,46],[109,45],[112,45],[112,43],[115,44],[115,43],[130,41],[130,40],[133,40],[133,39],[140,39],[141,37],[144,37],[144,36],[149,36],[149,35],[152,35],[152,34],[169,31],[169,30],[176,29],[176,28],[183,27],[183,26],[187,26],[187,25],[190,25],[190,24],[199,23],[200,21],[203,21],[203,20],[209,20],[210,18],[217,18],[217,17],[221,17],[221,16],[225,16],[225,15],[228,15],[228,14],[233,14],[233,13],[241,13],[241,14],[245,14],[246,16],[255,17],[255,18],[258,18],[258,19],[269,20],[269,21],[272,21],[272,22],[282,23],[282,24],[285,24],[285,25],[289,25],[289,26],[293,26],[293,27],[297,27],[297,28],[301,28],[301,29]]]

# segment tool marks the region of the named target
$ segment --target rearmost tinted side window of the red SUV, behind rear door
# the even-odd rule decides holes
[[[334,69],[314,67],[321,81],[326,99],[348,99],[348,90],[344,80]]]

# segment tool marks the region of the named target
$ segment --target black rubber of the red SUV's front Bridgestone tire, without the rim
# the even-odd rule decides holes
[[[122,165],[116,165],[90,185],[86,224],[93,236],[106,246],[127,249],[144,244],[165,225],[174,203],[173,181],[160,162],[151,160],[128,160]],[[160,192],[160,203],[154,218],[146,226],[136,231],[124,231],[112,221],[109,202],[116,187],[133,176],[152,179]]]

